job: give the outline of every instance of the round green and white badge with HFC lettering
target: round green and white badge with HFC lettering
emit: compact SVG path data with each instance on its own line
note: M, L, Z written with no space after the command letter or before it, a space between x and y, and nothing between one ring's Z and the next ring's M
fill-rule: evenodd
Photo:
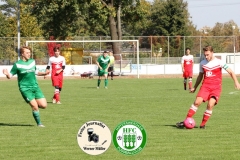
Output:
M147 142L146 131L135 121L124 121L113 132L113 144L126 155L134 155L143 150Z

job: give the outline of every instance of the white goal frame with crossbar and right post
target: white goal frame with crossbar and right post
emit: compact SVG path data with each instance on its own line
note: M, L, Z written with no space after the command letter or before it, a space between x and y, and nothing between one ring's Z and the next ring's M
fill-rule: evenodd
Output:
M101 43L109 43L109 42L131 42L133 44L136 44L136 53L137 53L137 78L139 79L139 40L65 40L65 41L51 41L51 40L29 40L26 41L26 46L28 46L30 43L99 43L101 46ZM102 52L101 47L99 49L100 52Z

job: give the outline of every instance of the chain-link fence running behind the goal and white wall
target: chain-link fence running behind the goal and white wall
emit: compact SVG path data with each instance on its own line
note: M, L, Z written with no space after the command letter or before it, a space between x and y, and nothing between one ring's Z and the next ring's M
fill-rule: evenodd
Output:
M215 53L236 53L239 54L238 36L124 36L124 40L139 40L140 64L179 64L185 49L190 48L191 54L195 57L195 63L200 61L202 48L212 45ZM26 41L45 40L42 37L21 37L21 45ZM111 40L111 37L72 37L71 40ZM67 41L59 44L65 48L83 48L83 56L96 56L104 50L112 50L112 43L85 43ZM47 43L29 44L33 49L32 58L37 64L47 64L49 53ZM18 60L17 37L0 37L0 65L11 65ZM122 59L137 63L136 44L133 42L122 42L120 45ZM83 62L90 64L89 60Z

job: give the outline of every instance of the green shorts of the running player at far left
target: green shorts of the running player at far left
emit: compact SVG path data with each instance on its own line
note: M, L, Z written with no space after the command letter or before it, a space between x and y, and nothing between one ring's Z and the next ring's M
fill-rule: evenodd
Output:
M45 98L41 89L39 87L34 87L34 88L28 88L24 90L20 90L23 99L29 103L33 99L41 99Z

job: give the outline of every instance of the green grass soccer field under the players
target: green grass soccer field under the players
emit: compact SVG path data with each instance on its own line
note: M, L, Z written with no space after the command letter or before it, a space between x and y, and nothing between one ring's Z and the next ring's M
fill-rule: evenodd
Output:
M195 81L196 79L194 79ZM183 90L182 78L114 79L108 89L97 89L97 79L65 79L61 105L51 103L51 80L39 80L48 107L40 110L45 128L36 127L30 107L22 99L16 80L0 81L0 159L239 159L240 92L231 78L223 79L219 104L205 130L199 124L206 103L194 116L196 128L178 129L196 93ZM79 128L87 121L104 122L113 132L126 120L140 123L147 144L138 154L127 156L113 143L101 155L83 152L77 143Z

